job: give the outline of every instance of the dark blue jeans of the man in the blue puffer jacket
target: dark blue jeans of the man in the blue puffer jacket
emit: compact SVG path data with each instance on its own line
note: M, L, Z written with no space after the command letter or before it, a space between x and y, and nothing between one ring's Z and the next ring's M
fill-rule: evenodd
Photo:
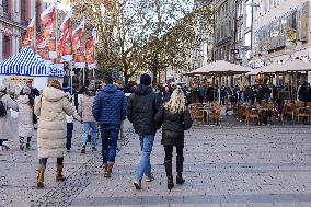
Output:
M115 163L119 125L101 124L103 163Z

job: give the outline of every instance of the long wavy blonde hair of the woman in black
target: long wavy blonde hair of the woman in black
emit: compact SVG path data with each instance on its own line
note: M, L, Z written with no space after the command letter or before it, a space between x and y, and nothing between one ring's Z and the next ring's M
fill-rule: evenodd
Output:
M183 112L185 107L185 95L181 89L175 89L171 95L171 99L165 103L164 108L173 114Z

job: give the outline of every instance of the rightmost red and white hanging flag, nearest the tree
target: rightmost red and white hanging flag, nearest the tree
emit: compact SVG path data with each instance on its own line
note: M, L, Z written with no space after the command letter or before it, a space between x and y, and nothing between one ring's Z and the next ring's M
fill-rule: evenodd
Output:
M85 46L85 60L89 69L96 68L95 47L96 47L96 30L93 28L92 36L89 37Z

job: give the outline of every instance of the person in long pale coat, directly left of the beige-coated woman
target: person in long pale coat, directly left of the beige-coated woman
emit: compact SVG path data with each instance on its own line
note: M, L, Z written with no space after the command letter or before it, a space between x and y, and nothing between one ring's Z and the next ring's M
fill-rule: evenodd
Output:
M31 149L31 140L34 136L33 106L34 100L30 95L31 89L24 88L18 97L19 116L18 130L20 137L20 149L24 150L24 140L27 138L26 148Z

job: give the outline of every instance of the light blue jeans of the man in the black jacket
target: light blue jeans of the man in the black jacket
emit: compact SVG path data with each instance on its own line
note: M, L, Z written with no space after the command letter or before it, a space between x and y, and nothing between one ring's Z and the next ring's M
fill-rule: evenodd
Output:
M141 158L139 166L136 171L136 180L140 181L143 176L151 175L151 163L150 163L150 154L153 147L154 136L153 135L143 135L139 137L140 139L140 148L141 148Z

